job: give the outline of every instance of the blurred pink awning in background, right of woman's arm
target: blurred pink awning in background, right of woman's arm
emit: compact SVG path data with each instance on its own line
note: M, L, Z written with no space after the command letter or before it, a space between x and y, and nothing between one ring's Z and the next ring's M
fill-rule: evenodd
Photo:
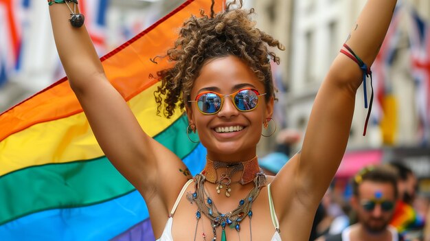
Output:
M354 176L366 165L381 163L383 159L382 150L363 150L346 152L342 163L336 172L336 177L349 178Z

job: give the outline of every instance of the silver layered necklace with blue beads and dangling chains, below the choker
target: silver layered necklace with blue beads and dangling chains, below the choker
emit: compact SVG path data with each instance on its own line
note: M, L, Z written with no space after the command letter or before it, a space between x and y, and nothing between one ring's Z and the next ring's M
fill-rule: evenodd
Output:
M243 175L242 175L243 176ZM238 235L240 231L240 222L244 220L247 216L249 217L249 233L250 238L252 240L252 232L251 232L251 218L252 218L252 203L256 200L258 194L260 193L260 188L266 183L266 175L263 172L257 172L254 174L253 182L254 187L249 192L249 194L239 200L238 207L233 211L229 211L225 214L220 213L216 208L214 201L210 198L209 194L205 191L205 187L203 183L207 180L206 176L202 174L197 174L194 178L195 181L195 192L192 194L187 194L187 198L191 203L196 203L197 211L196 211L196 231L194 232L194 240L196 240L197 228L199 227L199 220L201 219L201 215L204 214L207 218L209 218L211 222L212 232L214 238L212 240L216 240L216 228L221 227L221 241L227 241L227 237L225 235L225 227L229 226L231 229L236 229ZM205 233L203 233L203 239L205 240ZM240 236L239 236L240 239Z

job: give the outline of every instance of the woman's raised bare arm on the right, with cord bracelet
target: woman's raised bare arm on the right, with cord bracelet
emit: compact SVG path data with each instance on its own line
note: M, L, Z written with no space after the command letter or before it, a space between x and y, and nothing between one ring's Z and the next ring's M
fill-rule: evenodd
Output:
M396 0L368 0L352 26L346 45L367 66L378 54L395 6ZM345 48L343 51L350 53ZM339 167L350 135L355 95L362 82L363 71L357 62L339 53L315 98L302 150L287 164L292 171L287 174L290 168L284 168L273 183L277 187L279 181L281 190L293 174L292 192L306 207L316 209ZM285 192L280 193L280 198L285 198Z

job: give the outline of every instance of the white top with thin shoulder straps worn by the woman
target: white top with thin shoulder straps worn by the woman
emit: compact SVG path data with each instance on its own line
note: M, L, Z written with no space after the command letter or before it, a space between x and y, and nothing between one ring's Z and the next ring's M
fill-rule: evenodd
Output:
M166 222L166 226L164 227L163 233L161 233L161 237L159 239L157 239L157 241L173 241L172 238L172 223L173 223L173 214L174 211L176 211L179 201L181 200L185 190L187 190L188 185L190 185L190 183L192 183L192 179L188 180L187 183L185 183L185 185L182 187L181 193L179 193L179 196L176 200L176 202L173 205L172 211L170 211L170 217L168 218L167 222ZM282 241L281 240L281 236L279 234L279 222L278 222L278 218L276 217L275 214L275 207L273 206L273 200L272 200L272 196L271 196L271 192L270 192L270 184L267 186L267 192L268 192L268 196L269 196L269 205L270 205L270 214L272 217L272 222L273 222L273 226L275 227L275 233L273 234L273 237L271 239L271 241ZM398 240L396 240L398 241Z

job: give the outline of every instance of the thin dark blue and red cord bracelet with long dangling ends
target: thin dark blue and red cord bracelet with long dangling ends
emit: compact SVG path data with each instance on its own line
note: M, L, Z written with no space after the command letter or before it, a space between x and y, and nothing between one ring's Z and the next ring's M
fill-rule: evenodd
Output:
M369 122L370 112L372 111L372 103L373 103L372 71L370 70L370 67L367 67L365 62L363 62L363 60L361 60L361 58L359 58L359 56L357 56L357 54L355 54L354 51L352 51L352 49L348 45L346 45L346 43L343 44L343 47L348 49L348 51L350 51L351 54L343 49L341 49L341 53L345 54L350 59L354 60L354 62L357 62L357 65L359 65L361 71L363 71L364 108L367 108L366 77L370 77L370 87L372 89L372 94L370 95L369 110L367 111L367 116L366 116L364 130L363 130L363 135L366 135L367 124Z

